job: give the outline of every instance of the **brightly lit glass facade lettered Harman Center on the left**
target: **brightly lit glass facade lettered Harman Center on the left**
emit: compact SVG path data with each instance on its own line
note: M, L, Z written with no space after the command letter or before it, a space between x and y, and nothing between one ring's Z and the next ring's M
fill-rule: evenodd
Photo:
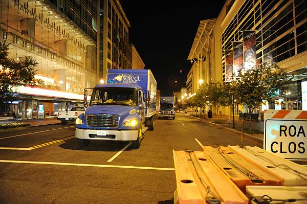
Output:
M20 95L8 111L15 118L53 117L82 105L83 89L98 82L97 7L85 0L0 1L0 40L10 44L9 57L35 59L42 80L14 87Z

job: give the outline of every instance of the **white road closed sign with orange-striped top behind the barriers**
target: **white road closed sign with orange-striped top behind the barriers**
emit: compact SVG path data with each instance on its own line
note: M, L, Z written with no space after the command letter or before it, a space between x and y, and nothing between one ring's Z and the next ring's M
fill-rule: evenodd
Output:
M290 160L307 160L307 111L267 110L264 149Z

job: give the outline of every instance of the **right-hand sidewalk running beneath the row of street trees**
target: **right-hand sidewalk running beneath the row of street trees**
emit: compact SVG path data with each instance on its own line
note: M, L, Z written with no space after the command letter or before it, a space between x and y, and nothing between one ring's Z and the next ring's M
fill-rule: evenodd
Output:
M193 112L193 114L195 114L195 112ZM198 113L199 114L199 113ZM195 118L199 118L202 121L206 121L206 122L210 122L211 124L214 124L216 126L220 126L220 127L224 127L228 130L234 131L238 134L240 134L240 129L242 127L242 122L243 120L239 120L239 117L235 116L234 117L234 129L233 129L233 116L230 116L230 120L231 120L231 124L228 123L229 120L229 116L226 115L218 115L216 116L216 114L212 114L212 118L208 119L208 115L205 114L205 119L204 118L200 118L199 115L197 116L191 116L191 112L188 111L187 115L189 115L190 117L195 117ZM203 115L202 115L203 116ZM245 129L249 129L249 121L244 121L244 128ZM244 133L244 135L246 135L247 137L256 139L257 141L263 141L264 140L264 121L259 121L259 122L251 122L251 128L261 131L262 133L254 133L254 134L248 134L248 133Z

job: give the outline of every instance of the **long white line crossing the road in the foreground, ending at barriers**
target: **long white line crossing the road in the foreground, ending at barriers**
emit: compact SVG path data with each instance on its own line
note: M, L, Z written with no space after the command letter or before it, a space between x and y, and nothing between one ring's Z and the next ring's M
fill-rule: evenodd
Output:
M174 168L99 165L99 164L75 164L75 163L60 163L60 162L33 162L33 161L15 161L15 160L0 160L0 162L1 163L19 163L19 164L50 164L50 165L63 165L63 166L123 168L123 169L149 169L149 170L165 170L165 171L174 171L175 170Z

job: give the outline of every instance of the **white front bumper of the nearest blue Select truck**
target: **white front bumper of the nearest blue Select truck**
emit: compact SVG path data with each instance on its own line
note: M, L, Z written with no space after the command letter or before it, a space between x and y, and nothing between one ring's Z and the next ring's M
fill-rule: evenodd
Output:
M114 140L135 141L138 139L139 130L103 130L105 135L98 135L98 131L76 128L76 138L86 140Z

